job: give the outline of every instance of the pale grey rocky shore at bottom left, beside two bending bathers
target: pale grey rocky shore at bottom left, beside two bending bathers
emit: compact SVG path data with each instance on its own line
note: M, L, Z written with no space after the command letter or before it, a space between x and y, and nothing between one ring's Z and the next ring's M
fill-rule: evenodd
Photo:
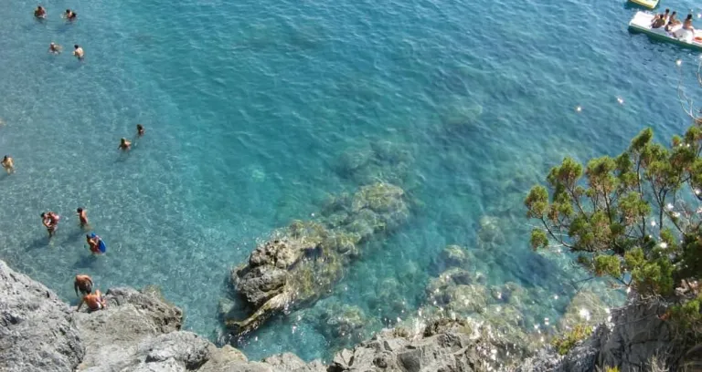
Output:
M105 297L105 309L76 312L0 261L0 371L324 370L289 354L271 357L270 363L248 362L231 346L218 348L180 331L183 313L154 290L113 288Z

